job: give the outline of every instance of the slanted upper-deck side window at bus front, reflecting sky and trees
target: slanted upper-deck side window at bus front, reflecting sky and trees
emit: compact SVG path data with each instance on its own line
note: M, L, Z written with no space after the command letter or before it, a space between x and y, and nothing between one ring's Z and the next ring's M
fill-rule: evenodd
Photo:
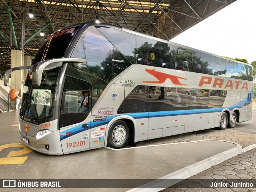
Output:
M131 65L94 26L87 28L76 44L72 57L86 58L78 65L91 75L111 81Z

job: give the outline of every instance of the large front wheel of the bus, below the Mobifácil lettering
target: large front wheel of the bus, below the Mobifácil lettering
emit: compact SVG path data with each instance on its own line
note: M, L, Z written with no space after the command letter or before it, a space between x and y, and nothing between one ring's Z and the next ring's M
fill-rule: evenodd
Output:
M121 120L115 121L109 128L107 145L111 148L124 148L128 141L128 125Z

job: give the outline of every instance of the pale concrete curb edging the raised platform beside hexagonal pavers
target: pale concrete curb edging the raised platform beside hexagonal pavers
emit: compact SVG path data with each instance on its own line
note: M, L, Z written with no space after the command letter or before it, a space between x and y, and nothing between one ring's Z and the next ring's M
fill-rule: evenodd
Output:
M222 141L222 140L206 139L206 140L199 140L199 141ZM182 143L192 143L192 142L199 142L199 141L182 142ZM225 141L225 142L233 143L230 141ZM177 144L177 143L172 143L172 144ZM218 165L218 164L224 162L225 160L228 160L238 154L241 154L243 152L242 146L237 143L234 143L234 144L236 144L236 147L230 148L229 150L226 150L224 152L221 152L219 154L216 154L214 156L206 158L200 162L186 166L178 171L172 172L166 176L159 178L158 180L161 180L160 182L157 180L154 180L152 182L149 182L149 183L139 186L137 188L133 188L126 192L158 192L160 190L164 190L174 184L181 182L182 180L185 180L185 179L187 179L191 176L194 176L208 168ZM164 144L162 144L162 145L164 145ZM256 144L254 144L254 145L255 145L254 147L256 147ZM153 145L150 145L150 146L153 146ZM159 146L159 145L154 145L154 146ZM248 149L248 150L250 150L250 149ZM165 188L163 188L162 186L165 186Z

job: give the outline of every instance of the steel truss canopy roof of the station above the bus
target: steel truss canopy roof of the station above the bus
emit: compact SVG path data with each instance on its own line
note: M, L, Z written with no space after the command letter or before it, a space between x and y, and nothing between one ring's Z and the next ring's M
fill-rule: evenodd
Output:
M10 68L11 49L22 49L24 55L34 56L50 34L71 24L99 19L170 40L234 1L1 0L0 71ZM30 18L30 14L34 16ZM44 36L40 36L40 30Z

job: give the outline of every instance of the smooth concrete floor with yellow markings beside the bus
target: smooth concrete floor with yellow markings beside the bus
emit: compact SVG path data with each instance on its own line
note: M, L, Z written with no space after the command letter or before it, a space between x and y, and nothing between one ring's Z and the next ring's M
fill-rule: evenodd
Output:
M112 179L105 187L102 185L103 188L77 188L76 192L126 191L131 187L108 187L111 182L120 179L132 179L134 185L129 186L140 186L147 182L142 179L162 178L237 146L234 143L213 140L142 146L123 150L99 148L61 156L49 156L33 150L22 150L25 146L20 144L18 118L18 111L0 113L0 179L94 179L94 182L100 182L100 179ZM20 152L21 150L24 154ZM72 189L4 188L0 191L54 192L72 191Z

